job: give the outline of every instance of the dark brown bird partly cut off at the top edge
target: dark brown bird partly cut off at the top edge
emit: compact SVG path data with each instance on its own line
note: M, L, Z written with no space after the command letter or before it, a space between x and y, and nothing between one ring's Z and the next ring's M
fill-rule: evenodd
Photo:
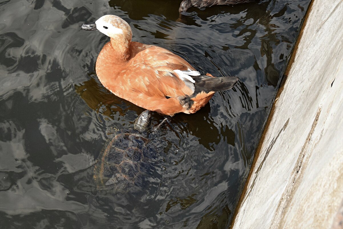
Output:
M203 8L215 5L230 5L250 2L252 0L183 0L180 4L179 12L186 12L192 6Z

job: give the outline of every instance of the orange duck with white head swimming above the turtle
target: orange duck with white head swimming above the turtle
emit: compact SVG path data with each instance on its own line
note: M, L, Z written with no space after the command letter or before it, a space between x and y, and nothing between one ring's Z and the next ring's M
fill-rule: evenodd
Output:
M96 61L100 82L113 94L145 109L167 115L194 113L216 91L237 83L237 77L200 75L164 48L131 42L129 24L115 15L105 15L82 28L111 37Z

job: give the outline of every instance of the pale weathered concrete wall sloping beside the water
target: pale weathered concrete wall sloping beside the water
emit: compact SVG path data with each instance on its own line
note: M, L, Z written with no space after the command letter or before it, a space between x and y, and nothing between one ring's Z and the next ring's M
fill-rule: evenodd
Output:
M231 228L343 219L343 1L312 0L309 10Z

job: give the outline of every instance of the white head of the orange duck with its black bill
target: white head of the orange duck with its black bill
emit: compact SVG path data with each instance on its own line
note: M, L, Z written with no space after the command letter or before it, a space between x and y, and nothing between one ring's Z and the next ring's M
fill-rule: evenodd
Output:
M116 15L105 15L93 23L84 23L81 27L84 30L100 31L115 40L125 38L131 41L132 38L130 25Z

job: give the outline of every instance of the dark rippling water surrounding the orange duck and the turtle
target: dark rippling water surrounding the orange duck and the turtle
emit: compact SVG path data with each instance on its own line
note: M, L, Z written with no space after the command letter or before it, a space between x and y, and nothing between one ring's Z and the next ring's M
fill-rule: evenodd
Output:
M0 1L0 228L228 227L309 0L191 8L181 19L179 2ZM160 177L139 195L88 188L106 130L143 111L96 77L108 37L80 25L109 13L133 41L240 79L154 137Z

